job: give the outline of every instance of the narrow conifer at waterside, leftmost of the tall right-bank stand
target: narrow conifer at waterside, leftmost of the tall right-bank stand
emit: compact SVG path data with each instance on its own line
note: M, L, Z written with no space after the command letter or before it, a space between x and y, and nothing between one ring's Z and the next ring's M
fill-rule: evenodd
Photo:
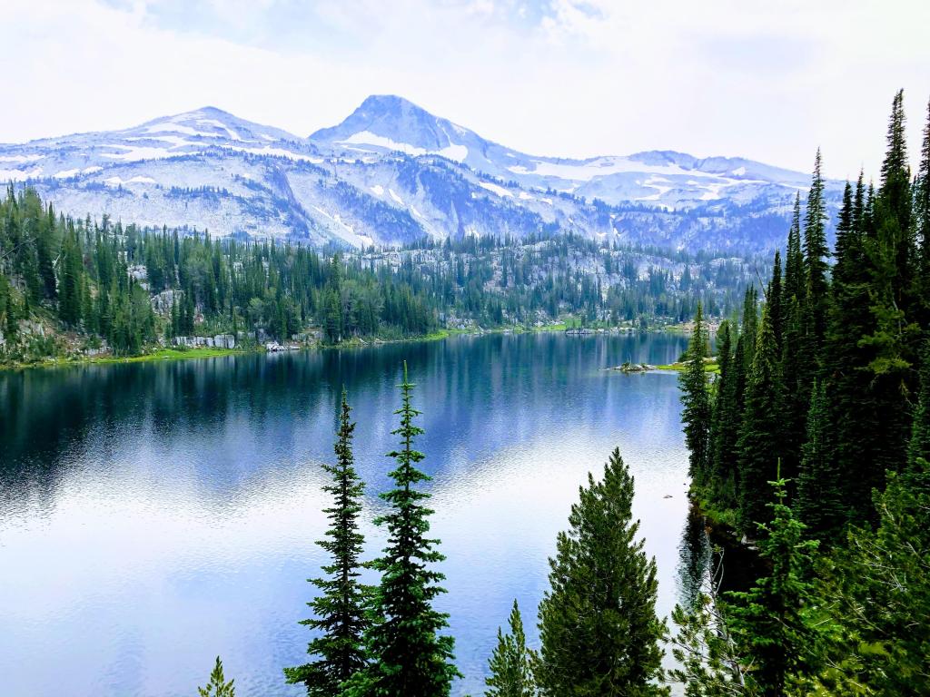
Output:
M707 330L700 303L697 303L694 331L688 344L686 367L679 375L682 388L684 442L689 453L688 473L698 486L707 482L710 464L711 396L707 388L704 357Z

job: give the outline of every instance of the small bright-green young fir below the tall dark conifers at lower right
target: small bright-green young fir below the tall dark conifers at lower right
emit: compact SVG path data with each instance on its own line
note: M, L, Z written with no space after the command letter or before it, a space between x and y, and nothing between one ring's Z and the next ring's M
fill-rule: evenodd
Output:
M769 482L771 523L760 525L759 553L771 571L749 591L728 594L730 629L743 655L751 659L748 679L764 697L783 697L793 677L818 667L819 638L812 617L813 585L806 580L817 541L804 541L804 523L785 503L787 482Z

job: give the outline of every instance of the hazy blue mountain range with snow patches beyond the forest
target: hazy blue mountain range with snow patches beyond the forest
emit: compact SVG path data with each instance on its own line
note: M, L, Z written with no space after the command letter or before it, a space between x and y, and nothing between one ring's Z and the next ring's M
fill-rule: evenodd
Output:
M309 138L213 107L120 131L0 145L0 181L60 211L314 244L570 231L622 243L767 250L809 176L680 152L513 151L406 99L372 96ZM829 203L839 201L828 183Z

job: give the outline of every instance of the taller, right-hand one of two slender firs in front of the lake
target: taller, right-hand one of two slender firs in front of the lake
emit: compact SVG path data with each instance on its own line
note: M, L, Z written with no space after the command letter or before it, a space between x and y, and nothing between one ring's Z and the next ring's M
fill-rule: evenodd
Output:
M423 502L430 494L416 489L430 478L417 468L424 455L413 449L414 439L423 433L414 425L420 414L411 402L414 387L404 363L402 406L395 412L401 423L392 431L400 436L401 448L389 454L397 462L390 472L394 488L381 494L391 511L375 520L388 530L384 555L372 563L381 572L372 608L378 621L365 633L371 663L350 681L347 693L353 697L442 697L458 677L451 663L454 639L439 634L448 615L432 608L432 601L445 592L437 585L445 576L429 567L445 557L435 548L439 540L426 536L432 510Z

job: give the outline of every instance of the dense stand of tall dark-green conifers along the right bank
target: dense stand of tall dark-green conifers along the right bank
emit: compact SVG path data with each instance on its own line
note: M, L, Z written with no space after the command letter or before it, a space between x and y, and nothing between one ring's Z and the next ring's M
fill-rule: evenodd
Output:
M845 187L832 252L817 153L784 272L777 253L721 324L711 382L697 311L692 492L766 575L679 609L693 694L930 693L930 112L911 178L902 101L877 188Z

